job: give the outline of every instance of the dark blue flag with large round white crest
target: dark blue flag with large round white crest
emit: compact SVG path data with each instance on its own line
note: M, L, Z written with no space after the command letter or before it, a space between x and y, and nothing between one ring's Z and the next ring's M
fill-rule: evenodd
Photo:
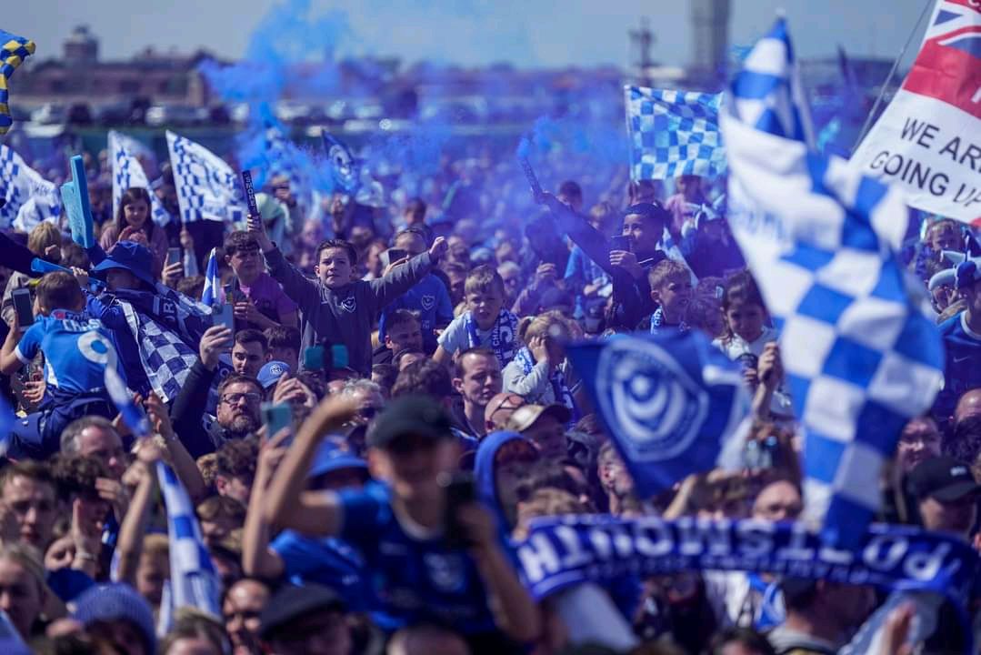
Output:
M738 464L749 412L740 370L697 330L569 346L593 407L645 497Z

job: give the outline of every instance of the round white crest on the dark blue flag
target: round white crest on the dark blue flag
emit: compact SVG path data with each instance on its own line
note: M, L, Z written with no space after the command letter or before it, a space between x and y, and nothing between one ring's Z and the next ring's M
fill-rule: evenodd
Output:
M688 450L708 412L708 394L652 342L611 342L599 355L596 395L632 460L663 462Z

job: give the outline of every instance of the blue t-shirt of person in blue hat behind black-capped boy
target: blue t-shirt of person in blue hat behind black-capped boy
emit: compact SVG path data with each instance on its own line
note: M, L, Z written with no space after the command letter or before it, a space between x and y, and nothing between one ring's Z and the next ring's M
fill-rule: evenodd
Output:
M364 561L344 541L284 530L270 547L283 560L283 574L290 581L301 585L316 582L335 589L351 612L366 612L371 608L371 580Z

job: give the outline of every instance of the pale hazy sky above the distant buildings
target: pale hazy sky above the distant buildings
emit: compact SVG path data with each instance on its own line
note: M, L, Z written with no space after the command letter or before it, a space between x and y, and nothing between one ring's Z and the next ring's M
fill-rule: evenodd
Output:
M101 59L206 48L226 58L248 49L260 23L293 19L336 28L337 56L397 56L479 66L522 68L627 66L626 32L650 19L656 61L689 61L691 0L26 0L5 3L0 29L37 44L35 56L59 56L62 41L88 25ZM895 58L932 0L732 0L730 44L749 45L782 8L803 58ZM320 23L318 23L320 21ZM916 39L910 46L915 50ZM335 32L331 32L334 34ZM311 43L318 43L317 38ZM302 46L299 46L302 47Z

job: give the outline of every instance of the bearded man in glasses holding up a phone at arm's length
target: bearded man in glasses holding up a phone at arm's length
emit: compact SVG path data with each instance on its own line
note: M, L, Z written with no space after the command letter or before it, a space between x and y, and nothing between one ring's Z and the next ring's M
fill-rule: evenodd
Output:
M201 338L200 358L191 366L181 394L174 401L174 431L195 460L214 453L227 441L241 439L259 428L262 387L253 377L232 373L218 387L218 409L212 419L205 412L208 389L218 370L218 358L228 349L232 332L224 326L208 328ZM202 420L202 416L204 419Z

